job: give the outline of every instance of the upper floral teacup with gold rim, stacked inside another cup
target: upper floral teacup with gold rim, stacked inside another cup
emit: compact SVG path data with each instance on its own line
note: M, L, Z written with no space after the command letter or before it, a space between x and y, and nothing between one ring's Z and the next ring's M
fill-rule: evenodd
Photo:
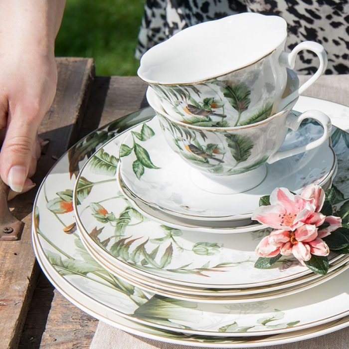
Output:
M325 71L322 45L305 41L284 51L286 21L241 13L186 28L147 51L138 69L173 119L200 127L250 125L282 110ZM297 54L319 57L317 72L282 97Z

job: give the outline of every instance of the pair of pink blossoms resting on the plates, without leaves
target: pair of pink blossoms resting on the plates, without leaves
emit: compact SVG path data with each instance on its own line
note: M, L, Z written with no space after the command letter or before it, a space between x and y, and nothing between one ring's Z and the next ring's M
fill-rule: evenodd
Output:
M342 226L342 219L319 212L324 200L324 190L315 184L306 187L300 195L286 188L273 190L271 205L259 207L252 219L277 230L262 239L256 254L266 258L293 254L303 265L312 254L327 256L330 250L322 237Z

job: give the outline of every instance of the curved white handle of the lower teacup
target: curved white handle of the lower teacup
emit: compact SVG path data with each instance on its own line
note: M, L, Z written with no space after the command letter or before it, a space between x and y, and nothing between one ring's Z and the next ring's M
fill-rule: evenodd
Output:
M315 119L320 125L324 128L324 134L317 139L316 141L310 142L304 146L297 147L290 150L285 150L282 152L276 152L272 154L269 159L267 160L268 164L273 164L276 161L279 161L281 159L285 159L288 157L292 157L294 155L306 152L308 150L314 149L316 147L321 146L331 135L331 120L330 118L324 114L323 112L320 112L318 110L308 110L304 112L303 114L296 116L292 113L289 114L289 116L286 119L285 126L293 131L297 131L299 128L299 125L301 125L302 121L304 119Z

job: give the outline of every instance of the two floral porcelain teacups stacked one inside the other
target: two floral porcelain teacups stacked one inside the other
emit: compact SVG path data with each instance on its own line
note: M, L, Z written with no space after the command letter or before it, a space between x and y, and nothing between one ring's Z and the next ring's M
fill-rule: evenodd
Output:
M305 41L287 53L286 38L283 18L241 13L186 28L142 57L138 75L149 84L148 102L170 147L199 170L196 185L222 194L246 191L263 181L266 163L329 138L324 113L291 113L298 96L324 73L325 49ZM302 50L313 51L320 63L299 86L292 69ZM288 130L307 118L323 126L323 135L279 151Z

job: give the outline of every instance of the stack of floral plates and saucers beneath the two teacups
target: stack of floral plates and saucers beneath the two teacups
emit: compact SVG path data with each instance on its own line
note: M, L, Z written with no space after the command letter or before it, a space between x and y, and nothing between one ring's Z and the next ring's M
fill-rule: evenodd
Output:
M300 97L295 108L317 103ZM335 123L338 111L349 117L335 103L323 111ZM348 326L349 257L330 255L326 276L291 257L256 269L254 249L268 229L251 214L276 186L300 192L334 182L349 197L349 135L334 127L332 144L268 165L257 187L222 195L195 185L153 116L146 108L94 132L42 183L33 244L56 288L98 319L175 344L250 348ZM305 122L283 148L319 133ZM149 167L137 166L135 142Z

